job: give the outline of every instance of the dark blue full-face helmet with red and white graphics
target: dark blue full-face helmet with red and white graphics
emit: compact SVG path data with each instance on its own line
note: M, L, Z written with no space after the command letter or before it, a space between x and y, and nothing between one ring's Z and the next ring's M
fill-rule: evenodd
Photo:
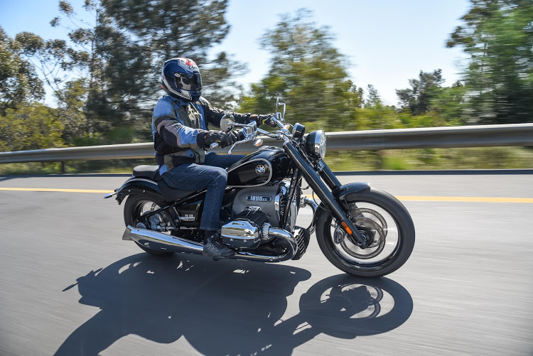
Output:
M189 58L171 58L161 71L163 90L173 99L195 102L202 95L200 70Z

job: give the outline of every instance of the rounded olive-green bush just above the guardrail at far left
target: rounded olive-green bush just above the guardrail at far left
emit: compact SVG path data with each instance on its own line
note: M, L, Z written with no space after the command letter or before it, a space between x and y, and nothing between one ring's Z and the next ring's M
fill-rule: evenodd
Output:
M23 104L0 116L0 151L26 151L64 146L63 124L43 104Z

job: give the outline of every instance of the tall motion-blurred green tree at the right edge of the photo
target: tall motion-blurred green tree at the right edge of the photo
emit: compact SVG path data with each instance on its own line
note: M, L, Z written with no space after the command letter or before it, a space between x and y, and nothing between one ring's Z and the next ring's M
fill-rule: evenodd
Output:
M471 115L483 124L532 121L533 2L470 1L447 45L470 55L464 82Z

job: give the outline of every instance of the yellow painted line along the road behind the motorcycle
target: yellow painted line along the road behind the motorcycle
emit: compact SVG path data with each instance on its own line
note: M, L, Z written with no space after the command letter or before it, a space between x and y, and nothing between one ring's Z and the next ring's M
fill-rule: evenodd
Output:
M103 189L61 189L61 188L1 188L0 190L23 192L58 192L58 193L114 193L113 190ZM307 195L313 198L313 195ZM316 195L315 195L316 197ZM397 196L398 200L413 200L424 202L468 202L468 203L526 203L533 204L533 198L489 198L489 197L426 197L426 196Z

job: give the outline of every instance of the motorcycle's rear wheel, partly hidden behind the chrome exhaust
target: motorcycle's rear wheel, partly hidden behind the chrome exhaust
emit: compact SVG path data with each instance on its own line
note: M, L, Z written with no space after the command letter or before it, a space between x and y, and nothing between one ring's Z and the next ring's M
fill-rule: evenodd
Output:
M158 195L129 195L126 203L124 204L124 223L126 226L131 225L139 229L156 230L157 225L161 225L161 223L164 224L170 221L170 218L166 212L159 212L156 215L152 215L147 219L146 222L139 222L138 218L142 215L148 214L149 212L158 210L160 207L165 205L165 201ZM170 232L161 233L170 234ZM174 252L149 249L148 247L139 244L139 242L135 243L137 246L141 247L141 249L144 249L144 251L148 252L149 254L153 254L154 256L171 256L174 254Z

